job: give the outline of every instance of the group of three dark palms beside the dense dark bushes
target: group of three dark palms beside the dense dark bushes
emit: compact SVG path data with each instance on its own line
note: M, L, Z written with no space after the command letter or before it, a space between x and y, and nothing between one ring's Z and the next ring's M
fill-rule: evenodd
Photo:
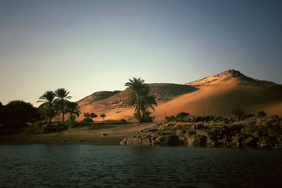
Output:
M46 91L37 102L42 102L38 107L38 113L41 117L49 119L48 124L56 115L62 114L63 121L65 121L65 114L69 114L70 120L75 120L79 117L80 108L76 102L70 102L68 99L71 98L69 91L65 88L58 88L55 91Z

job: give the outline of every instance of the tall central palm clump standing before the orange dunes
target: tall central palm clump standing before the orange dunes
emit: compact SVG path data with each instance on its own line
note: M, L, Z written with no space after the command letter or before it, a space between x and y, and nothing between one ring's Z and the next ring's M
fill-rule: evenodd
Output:
M150 88L141 78L133 78L133 80L129 79L129 81L124 86L132 89L127 98L127 105L135 108L134 117L139 122L153 121L154 117L149 116L151 114L149 108L155 111L153 105L157 106L156 97L149 95Z

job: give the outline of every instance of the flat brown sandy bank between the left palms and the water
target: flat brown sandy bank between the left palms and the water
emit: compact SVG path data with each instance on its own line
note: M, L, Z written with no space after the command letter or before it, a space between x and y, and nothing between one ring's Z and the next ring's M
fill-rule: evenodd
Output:
M0 136L0 144L72 144L75 143L119 143L124 138L136 135L155 123L128 123L123 125L96 125L70 128L66 131L48 134L13 134ZM101 136L108 134L107 136Z

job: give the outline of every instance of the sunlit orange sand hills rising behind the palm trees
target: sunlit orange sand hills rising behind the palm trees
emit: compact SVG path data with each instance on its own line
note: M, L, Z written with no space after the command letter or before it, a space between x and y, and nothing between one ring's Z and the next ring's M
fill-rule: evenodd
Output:
M181 111L191 115L230 115L234 109L241 108L246 113L255 114L266 111L268 114L282 116L282 85L247 77L236 70L228 70L220 74L206 77L194 82L181 84L154 83L148 84L151 94L157 98L158 106L153 115L157 121L166 115L176 115ZM117 91L116 91L117 92ZM82 114L95 112L106 114L106 119L133 120L133 109L125 106L125 99L130 89L108 93L109 97L97 97L78 101ZM79 117L81 120L83 117Z

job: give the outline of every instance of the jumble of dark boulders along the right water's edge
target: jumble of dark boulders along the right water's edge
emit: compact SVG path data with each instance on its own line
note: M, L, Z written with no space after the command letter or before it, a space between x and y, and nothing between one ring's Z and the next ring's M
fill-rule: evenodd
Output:
M282 147L282 118L278 116L250 117L240 122L217 126L209 122L195 123L178 130L161 131L161 125L144 130L139 135L123 139L121 145L248 145ZM145 133L145 134L142 134ZM141 135L140 135L141 134Z

